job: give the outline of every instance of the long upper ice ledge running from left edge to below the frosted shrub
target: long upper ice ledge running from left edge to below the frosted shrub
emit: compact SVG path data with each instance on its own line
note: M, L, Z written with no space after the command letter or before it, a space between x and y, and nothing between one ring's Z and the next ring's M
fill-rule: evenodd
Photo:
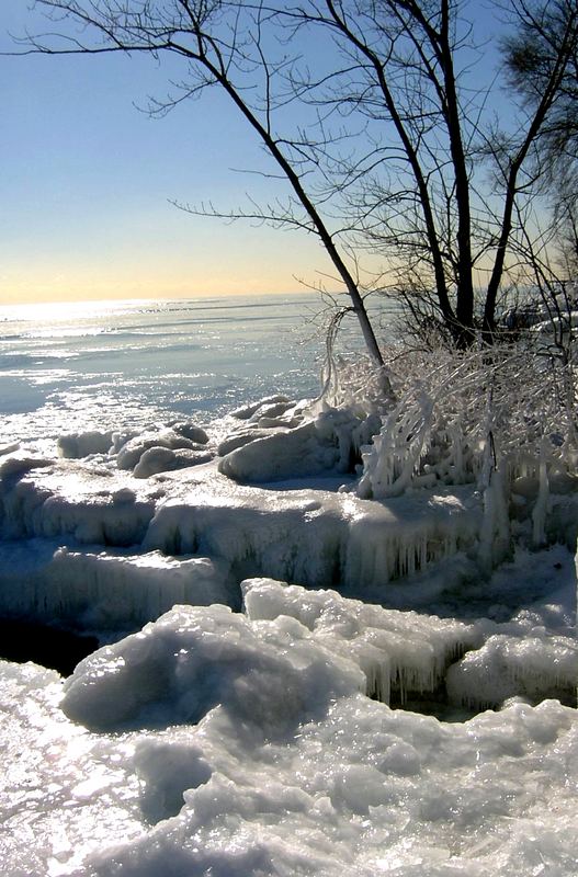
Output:
M30 464L2 479L3 536L201 554L229 563L238 580L363 589L451 557L475 542L479 527L468 488L442 491L427 505L412 497L388 505L319 489L241 486L213 466L161 479L77 460Z

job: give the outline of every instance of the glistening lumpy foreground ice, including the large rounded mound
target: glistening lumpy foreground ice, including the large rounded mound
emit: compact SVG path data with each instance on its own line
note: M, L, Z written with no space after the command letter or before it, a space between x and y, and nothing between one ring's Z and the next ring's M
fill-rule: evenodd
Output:
M385 641L397 613L308 592L299 610L299 589L281 590L248 582L249 612L305 624L178 606L84 659L64 684L68 718L56 674L0 665L4 874L576 873L576 710L392 710L338 643L362 620Z

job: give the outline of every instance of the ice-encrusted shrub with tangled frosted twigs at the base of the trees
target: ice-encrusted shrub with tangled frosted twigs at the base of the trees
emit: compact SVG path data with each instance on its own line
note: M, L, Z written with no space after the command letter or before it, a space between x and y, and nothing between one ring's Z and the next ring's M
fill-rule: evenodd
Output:
M503 537L497 522L512 485L524 481L534 499L533 540L543 542L548 486L571 486L578 463L573 358L545 355L525 338L468 352L390 350L388 368L397 401L382 410L379 433L362 448L359 494L477 483ZM366 363L342 360L336 373L333 405L376 411Z

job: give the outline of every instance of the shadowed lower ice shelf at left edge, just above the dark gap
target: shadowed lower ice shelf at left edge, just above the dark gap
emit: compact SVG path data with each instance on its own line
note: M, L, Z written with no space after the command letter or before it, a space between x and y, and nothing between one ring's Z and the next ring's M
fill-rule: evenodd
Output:
M134 630L175 603L238 605L228 565L160 551L71 550L31 539L0 545L1 614L73 628Z

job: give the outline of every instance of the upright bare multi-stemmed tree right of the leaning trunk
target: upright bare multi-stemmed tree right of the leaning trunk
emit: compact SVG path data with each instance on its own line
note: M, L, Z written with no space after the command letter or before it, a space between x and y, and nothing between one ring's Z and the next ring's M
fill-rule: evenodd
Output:
M501 23L524 34L551 5L559 12L556 38L536 100L514 101L503 125L488 124L492 84L478 87L471 69L483 47L465 18L467 3L313 0L285 12L301 26L330 31L348 60L330 79L309 77L303 93L366 121L369 148L341 162L336 183L356 246L378 249L389 289L415 321L431 318L457 346L468 346L478 330L492 341L505 281L517 270L533 273L524 262L530 229L534 250L549 235L534 209L544 171L536 148L569 100L576 0L513 0ZM500 4L494 9L498 14Z

